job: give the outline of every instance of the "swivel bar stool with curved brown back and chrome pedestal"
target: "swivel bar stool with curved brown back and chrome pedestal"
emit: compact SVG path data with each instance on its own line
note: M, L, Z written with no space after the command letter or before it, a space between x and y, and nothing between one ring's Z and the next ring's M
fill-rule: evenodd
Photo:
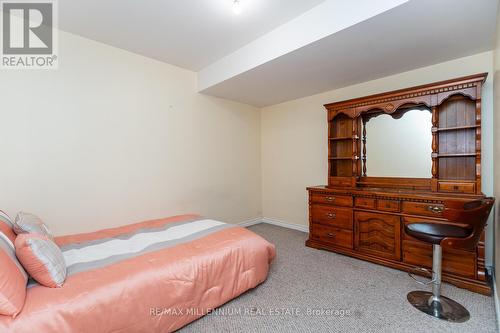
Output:
M441 295L442 248L473 250L486 226L494 198L469 201L446 201L443 217L453 224L411 223L405 226L405 232L426 243L432 244L432 272L425 268L419 271L432 273L429 282L418 281L409 272L411 278L420 284L432 284L432 293L412 291L407 299L415 308L433 317L451 321L465 322L470 314L466 308L454 300Z

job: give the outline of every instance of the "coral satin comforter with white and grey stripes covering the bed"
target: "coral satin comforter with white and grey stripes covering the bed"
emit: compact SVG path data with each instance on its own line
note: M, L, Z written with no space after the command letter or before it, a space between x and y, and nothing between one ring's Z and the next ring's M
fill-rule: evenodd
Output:
M57 237L62 288L28 286L0 332L171 332L265 281L272 244L231 224L183 215Z

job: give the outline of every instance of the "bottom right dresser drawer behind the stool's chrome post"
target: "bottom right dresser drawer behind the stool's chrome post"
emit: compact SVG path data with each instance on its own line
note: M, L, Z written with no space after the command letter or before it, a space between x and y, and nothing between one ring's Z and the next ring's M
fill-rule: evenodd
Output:
M403 262L418 267L432 267L432 245L419 241L403 241ZM476 255L474 252L443 250L443 272L468 278L476 276Z

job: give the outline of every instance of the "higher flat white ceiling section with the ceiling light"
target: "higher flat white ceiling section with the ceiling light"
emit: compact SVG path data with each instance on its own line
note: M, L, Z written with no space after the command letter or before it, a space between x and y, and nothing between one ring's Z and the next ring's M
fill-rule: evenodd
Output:
M59 1L59 28L198 71L323 1Z

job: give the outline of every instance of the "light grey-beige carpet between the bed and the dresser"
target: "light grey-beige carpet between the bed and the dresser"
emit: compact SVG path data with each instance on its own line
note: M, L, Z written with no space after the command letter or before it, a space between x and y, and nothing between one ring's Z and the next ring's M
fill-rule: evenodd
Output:
M471 313L466 323L447 323L407 303L419 288L404 272L306 248L299 231L250 229L277 248L267 281L181 332L496 332L492 297L444 284L443 294Z

